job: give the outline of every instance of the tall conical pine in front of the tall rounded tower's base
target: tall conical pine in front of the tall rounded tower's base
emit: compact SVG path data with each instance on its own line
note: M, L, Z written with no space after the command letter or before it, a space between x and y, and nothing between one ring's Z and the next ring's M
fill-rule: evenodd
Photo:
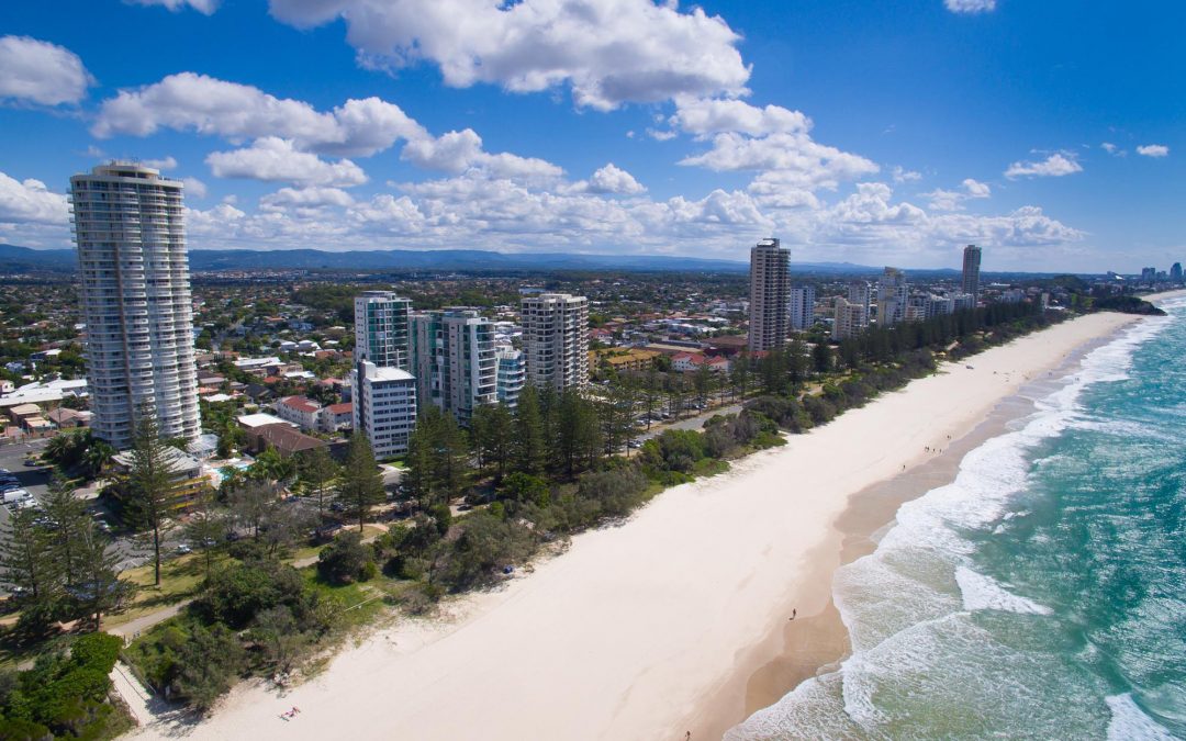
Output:
M160 439L157 417L142 411L128 452L127 511L132 520L152 531L153 583L160 586L160 534L173 498L176 448Z

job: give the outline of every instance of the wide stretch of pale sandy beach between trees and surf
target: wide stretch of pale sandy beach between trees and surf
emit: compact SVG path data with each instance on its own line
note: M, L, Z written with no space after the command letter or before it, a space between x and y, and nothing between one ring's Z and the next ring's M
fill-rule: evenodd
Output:
M753 703L777 700L764 691L843 652L842 630L811 626L839 624L827 613L842 550L860 549L860 534L905 496L871 487L904 471L945 475L935 451L969 445L1022 384L1135 320L1092 314L945 365L725 475L664 492L534 574L447 605L446 619L377 632L283 695L248 683L197 726L136 736L719 737ZM771 663L788 647L802 660ZM281 720L293 705L300 715Z

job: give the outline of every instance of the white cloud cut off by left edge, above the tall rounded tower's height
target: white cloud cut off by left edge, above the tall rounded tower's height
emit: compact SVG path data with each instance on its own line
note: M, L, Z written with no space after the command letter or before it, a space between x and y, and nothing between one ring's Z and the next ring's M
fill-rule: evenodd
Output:
M27 36L0 38L0 98L40 106L78 103L94 83L64 46Z

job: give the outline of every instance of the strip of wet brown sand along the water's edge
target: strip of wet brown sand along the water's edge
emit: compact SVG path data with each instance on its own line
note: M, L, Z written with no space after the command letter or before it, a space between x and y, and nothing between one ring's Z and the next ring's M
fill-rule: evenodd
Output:
M1032 378L1016 392L1003 397L980 424L952 440L936 458L854 493L834 523L834 531L821 547L823 552L816 562L817 575L828 582L825 605L795 621L773 625L766 638L739 662L727 683L703 700L702 709L688 724L700 727L709 739L720 739L804 681L837 670L849 657L850 644L848 630L831 599L836 569L873 552L880 535L897 522L901 505L955 481L964 455L1033 414L1034 400L1048 392L1044 387L1073 373L1089 352L1114 339L1124 326L1128 325L1088 340L1056 365L1044 369L1053 376Z

